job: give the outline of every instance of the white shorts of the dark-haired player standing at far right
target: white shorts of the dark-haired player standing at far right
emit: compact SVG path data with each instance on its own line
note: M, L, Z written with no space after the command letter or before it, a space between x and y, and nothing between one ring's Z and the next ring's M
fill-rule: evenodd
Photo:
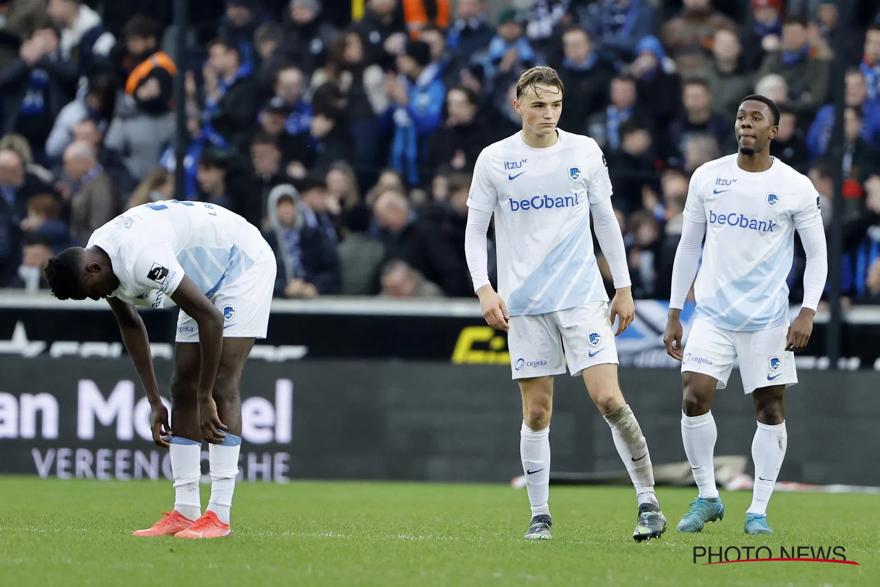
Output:
M738 358L745 393L772 385L795 385L795 354L785 350L787 337L788 325L735 332L695 319L687 336L681 371L708 375L718 380L716 389L724 389Z

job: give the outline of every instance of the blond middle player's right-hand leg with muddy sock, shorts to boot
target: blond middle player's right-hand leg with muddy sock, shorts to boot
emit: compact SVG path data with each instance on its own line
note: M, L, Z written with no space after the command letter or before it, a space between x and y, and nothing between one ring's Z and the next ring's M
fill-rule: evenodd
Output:
M654 470L648 443L620 391L617 377L618 357L608 305L593 302L555 312L573 376L581 374L590 399L605 417L614 446L627 467L635 488L639 508L633 537L644 540L659 537L666 530L666 518L654 492Z

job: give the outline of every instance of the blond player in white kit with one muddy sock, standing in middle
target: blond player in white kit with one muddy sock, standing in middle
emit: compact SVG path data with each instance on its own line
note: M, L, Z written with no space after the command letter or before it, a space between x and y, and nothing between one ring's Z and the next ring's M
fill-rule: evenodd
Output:
M508 332L510 368L523 398L520 456L532 505L526 539L551 538L550 415L554 375L583 381L612 430L636 489L634 539L660 536L666 520L654 493L648 444L620 393L616 334L635 315L620 224L605 157L591 138L556 128L564 89L556 71L519 78L514 106L523 129L480 153L467 201L465 248L473 287L489 326ZM487 231L495 215L498 292L487 271ZM590 215L617 294L611 305L599 275ZM564 350L563 350L564 345Z

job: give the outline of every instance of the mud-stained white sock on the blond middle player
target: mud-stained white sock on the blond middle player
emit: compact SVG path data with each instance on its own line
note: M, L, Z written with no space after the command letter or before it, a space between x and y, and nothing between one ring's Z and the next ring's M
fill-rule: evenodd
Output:
M614 446L633 480L636 501L639 505L650 503L660 507L654 493L654 467L651 466L648 443L633 410L628 405L618 407L605 415L605 422L611 427Z

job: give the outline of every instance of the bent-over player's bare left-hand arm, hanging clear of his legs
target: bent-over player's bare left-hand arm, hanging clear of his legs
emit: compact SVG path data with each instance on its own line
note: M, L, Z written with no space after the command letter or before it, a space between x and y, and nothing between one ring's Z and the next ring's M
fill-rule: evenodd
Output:
M168 425L168 409L162 404L162 399L159 397L147 328L143 326L143 319L137 313L135 306L126 304L116 297L107 297L106 300L119 323L122 342L125 344L125 349L128 350L131 362L135 363L137 376L141 378L143 389L147 392L147 399L150 400L152 411L150 429L153 432L153 442L168 448L166 437L170 437L172 431L171 426Z

